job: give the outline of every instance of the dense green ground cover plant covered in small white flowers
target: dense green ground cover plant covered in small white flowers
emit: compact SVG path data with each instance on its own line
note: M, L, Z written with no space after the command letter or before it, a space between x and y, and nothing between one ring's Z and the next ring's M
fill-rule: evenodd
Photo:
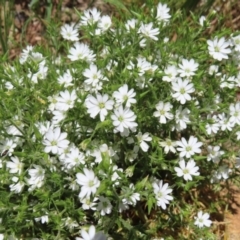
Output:
M2 57L1 238L215 239L240 167L240 35L165 3L78 15Z

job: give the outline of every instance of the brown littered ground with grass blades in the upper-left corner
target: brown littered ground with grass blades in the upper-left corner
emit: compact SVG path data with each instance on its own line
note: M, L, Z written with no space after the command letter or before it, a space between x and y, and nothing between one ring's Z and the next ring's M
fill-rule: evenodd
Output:
M89 7L97 7L103 13L113 11L113 7L103 0L52 0L51 3L46 0L14 0L14 4L11 2L13 1L0 0L0 27L4 30L3 34L6 32L7 35L5 39L8 41L9 59L18 56L26 44L45 44L44 31L50 19L59 23L76 22L79 18L76 10L83 11ZM30 8L31 2L36 4ZM9 16L7 22L4 20L6 15ZM0 44L0 53L2 50Z

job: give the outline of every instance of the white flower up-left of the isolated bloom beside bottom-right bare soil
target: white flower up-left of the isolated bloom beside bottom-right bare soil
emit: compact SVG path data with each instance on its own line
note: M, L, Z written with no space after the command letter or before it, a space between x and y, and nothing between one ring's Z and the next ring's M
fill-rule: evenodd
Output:
M168 187L168 183L163 184L162 180L153 182L152 186L157 199L157 205L162 209L166 209L166 204L173 200L173 197L169 195L172 189Z

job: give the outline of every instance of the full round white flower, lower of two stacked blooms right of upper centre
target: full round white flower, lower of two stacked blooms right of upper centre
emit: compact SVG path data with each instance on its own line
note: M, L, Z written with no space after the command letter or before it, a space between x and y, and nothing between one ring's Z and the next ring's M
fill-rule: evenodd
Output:
M182 80L181 78L172 82L172 90L174 91L172 96L181 104L185 104L186 101L191 100L189 93L193 93L195 91L193 84L188 79Z

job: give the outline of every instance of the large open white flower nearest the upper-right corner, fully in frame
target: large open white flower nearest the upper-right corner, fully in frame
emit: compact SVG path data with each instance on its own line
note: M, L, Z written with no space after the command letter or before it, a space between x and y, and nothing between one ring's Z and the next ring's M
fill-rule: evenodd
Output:
M218 39L207 40L209 54L216 60L228 59L228 54L231 52L229 42L224 37Z

